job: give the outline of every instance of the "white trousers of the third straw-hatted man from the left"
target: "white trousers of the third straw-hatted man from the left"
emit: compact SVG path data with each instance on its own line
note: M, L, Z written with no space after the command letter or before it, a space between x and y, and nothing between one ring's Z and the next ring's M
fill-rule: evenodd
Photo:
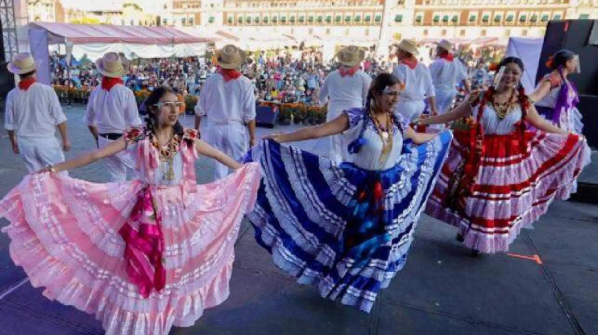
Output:
M210 124L206 132L206 142L210 146L224 152L230 158L239 160L248 150L249 139L244 125ZM220 162L215 161L214 180L222 179L230 173L230 169Z

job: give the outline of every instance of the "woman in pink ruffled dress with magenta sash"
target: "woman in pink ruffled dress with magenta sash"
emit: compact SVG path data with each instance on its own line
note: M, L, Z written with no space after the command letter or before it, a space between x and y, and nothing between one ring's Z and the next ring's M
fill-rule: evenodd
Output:
M146 128L78 158L26 176L0 201L10 254L44 296L95 314L106 334L168 334L228 297L243 216L260 185L256 163L240 165L178 123L179 102L165 88L147 99ZM141 179L90 183L71 170L135 150ZM237 169L197 185L206 155Z

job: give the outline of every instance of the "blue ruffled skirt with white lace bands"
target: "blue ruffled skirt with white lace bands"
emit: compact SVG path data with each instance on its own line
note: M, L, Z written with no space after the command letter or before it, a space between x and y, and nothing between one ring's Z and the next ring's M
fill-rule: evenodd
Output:
M264 140L244 158L263 170L255 209L247 214L255 238L300 284L370 312L380 289L405 265L451 139L443 131L406 147L385 171Z

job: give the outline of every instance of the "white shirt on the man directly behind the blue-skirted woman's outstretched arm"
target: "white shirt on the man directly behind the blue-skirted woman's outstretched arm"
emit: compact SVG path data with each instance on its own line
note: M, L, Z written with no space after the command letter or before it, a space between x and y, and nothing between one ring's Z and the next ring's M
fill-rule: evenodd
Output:
M322 85L319 100L325 103L328 97L328 110L342 112L352 108L363 107L368 96L371 77L358 70L353 76L341 76L338 70L330 73Z

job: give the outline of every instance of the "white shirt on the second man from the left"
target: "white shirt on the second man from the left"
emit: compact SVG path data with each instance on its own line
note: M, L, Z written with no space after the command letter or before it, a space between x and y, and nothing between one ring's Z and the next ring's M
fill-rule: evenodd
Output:
M133 91L121 84L110 91L96 87L89 96L84 121L97 127L100 134L123 133L129 127L142 125Z

